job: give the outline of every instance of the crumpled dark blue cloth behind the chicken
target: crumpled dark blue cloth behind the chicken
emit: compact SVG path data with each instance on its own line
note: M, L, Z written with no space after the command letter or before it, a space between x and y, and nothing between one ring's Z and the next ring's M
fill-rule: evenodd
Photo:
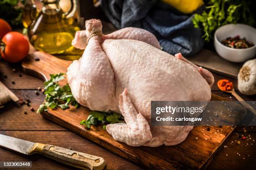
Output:
M101 0L108 19L118 29L137 27L148 30L169 54L193 55L204 45L201 30L192 17L157 0Z

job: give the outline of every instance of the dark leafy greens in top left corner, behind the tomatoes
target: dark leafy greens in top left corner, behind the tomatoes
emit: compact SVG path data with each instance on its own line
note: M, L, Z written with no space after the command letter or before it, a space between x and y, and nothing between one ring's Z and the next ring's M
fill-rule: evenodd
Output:
M24 3L25 0L0 0L0 18L12 26L21 25L22 10L18 2Z

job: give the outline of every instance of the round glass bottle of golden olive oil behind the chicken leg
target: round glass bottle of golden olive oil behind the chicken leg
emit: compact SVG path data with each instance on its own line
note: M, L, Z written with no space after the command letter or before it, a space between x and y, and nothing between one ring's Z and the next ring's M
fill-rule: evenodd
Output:
M81 55L82 50L75 49L71 43L75 32L80 30L72 16L76 11L76 0L71 0L72 8L64 13L59 0L41 0L43 8L29 28L31 44L50 54Z

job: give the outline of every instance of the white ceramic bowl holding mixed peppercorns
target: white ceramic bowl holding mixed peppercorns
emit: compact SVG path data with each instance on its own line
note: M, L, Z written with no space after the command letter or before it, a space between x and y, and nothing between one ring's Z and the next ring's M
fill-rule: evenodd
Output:
M245 49L235 49L221 44L222 40L227 37L240 35L241 38L253 42L254 46ZM228 24L224 25L214 33L214 47L216 52L226 60L232 62L244 62L256 55L256 29L245 24Z

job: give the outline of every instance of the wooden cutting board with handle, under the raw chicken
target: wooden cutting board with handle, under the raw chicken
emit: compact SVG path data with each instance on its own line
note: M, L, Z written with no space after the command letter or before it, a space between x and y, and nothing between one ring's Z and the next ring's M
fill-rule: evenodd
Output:
M43 52L35 52L26 58L22 66L26 73L48 80L49 74L65 73L70 63L71 61L61 60ZM59 83L64 85L67 80ZM225 99L212 94L212 100ZM210 131L207 131L206 126L195 126L187 139L179 145L132 147L114 140L102 129L102 125L92 126L91 130L80 125L79 122L86 120L89 112L86 107L71 107L67 110L49 110L41 115L146 169L205 169L234 131L231 126L210 126ZM195 137L198 137L198 140L195 140ZM98 156L104 158L104 155Z

